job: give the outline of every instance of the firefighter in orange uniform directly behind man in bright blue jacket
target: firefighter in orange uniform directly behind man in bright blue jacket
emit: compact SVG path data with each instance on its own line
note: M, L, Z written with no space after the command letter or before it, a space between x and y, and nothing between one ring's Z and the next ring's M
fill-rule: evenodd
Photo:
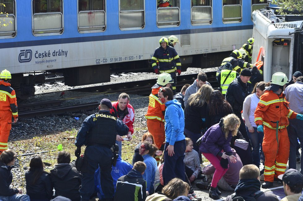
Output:
M158 92L161 87L171 87L173 78L168 73L161 73L158 76L157 83L152 87L152 93L149 95L149 105L147 109L147 128L154 138L154 143L160 149L165 142L164 114L165 104L158 100Z

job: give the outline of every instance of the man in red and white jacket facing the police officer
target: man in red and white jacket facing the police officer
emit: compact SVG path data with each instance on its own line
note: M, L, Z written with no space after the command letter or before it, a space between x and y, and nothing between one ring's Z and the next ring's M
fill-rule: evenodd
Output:
M128 126L129 131L127 134L128 140L130 141L132 139L132 135L134 133L134 120L135 120L135 111L133 106L129 104L130 102L130 96L127 93L121 93L119 95L118 101L112 102L112 106L116 108L118 118L121 119L123 123ZM114 113L114 109L110 110L110 113ZM119 155L121 156L121 150L122 150L122 141L123 137L120 136L119 140L116 140L116 144L119 145Z

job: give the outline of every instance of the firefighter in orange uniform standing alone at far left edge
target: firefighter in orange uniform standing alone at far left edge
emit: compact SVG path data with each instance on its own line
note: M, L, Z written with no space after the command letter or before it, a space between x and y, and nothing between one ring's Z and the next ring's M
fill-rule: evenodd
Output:
M3 70L0 73L0 154L7 150L8 136L11 130L11 116L14 123L18 121L18 108L16 93L11 84L10 71Z

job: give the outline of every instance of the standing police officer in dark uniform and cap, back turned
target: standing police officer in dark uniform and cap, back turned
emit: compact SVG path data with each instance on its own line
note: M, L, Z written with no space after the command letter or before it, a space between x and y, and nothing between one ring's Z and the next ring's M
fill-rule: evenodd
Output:
M128 127L115 115L109 113L112 109L110 100L104 98L99 105L99 113L88 116L78 131L75 145L75 156L79 158L81 146L86 145L81 173L82 201L88 201L94 193L94 172L100 166L101 187L105 194L102 201L112 201L114 186L112 180L113 149L116 139L127 135ZM118 135L117 135L118 134ZM119 136L120 135L120 136Z

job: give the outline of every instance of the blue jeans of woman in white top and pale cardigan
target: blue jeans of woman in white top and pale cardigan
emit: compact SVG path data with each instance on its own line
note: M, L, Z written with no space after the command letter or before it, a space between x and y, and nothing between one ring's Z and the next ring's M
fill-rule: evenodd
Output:
M246 132L248 134L248 137L250 139L250 142L252 143L252 163L254 165L257 165L257 167L260 167L260 148L262 149L262 142L264 138L264 133L258 133L257 128L253 127L254 132L251 133L248 130L248 127L246 127Z

